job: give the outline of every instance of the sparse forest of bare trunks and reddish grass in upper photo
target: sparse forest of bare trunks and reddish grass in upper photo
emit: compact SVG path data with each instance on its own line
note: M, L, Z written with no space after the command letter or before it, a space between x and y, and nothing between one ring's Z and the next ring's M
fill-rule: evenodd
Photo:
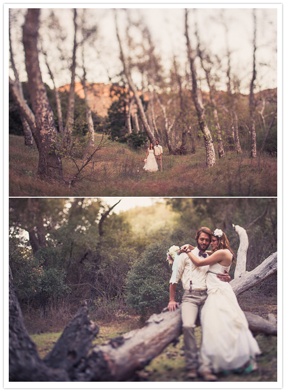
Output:
M156 10L10 8L10 196L276 196L276 16L237 12L238 60L245 26L229 12L178 9L179 30L166 14L177 39L166 52ZM102 75L110 104L98 114ZM156 139L164 169L147 174Z

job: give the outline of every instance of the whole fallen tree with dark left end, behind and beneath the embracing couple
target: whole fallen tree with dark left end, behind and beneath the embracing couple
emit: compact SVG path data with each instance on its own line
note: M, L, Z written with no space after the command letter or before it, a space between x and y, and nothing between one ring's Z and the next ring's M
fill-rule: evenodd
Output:
M230 282L236 295L277 272L277 252L251 272ZM253 334L277 335L277 323L246 312ZM9 381L126 381L143 369L182 333L180 309L151 316L141 329L95 346L98 326L89 320L86 304L65 328L44 360L24 326L9 268Z

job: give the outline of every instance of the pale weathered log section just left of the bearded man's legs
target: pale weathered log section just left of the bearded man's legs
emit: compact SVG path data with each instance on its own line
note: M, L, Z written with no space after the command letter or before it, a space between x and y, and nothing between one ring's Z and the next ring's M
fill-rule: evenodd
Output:
M180 310L175 312L161 312L151 316L145 326L123 336L111 339L104 345L93 349L86 364L89 374L85 369L77 375L80 380L87 380L91 371L96 367L93 358L103 357L110 373L100 374L100 381L124 381L133 376L135 371L143 369L165 347L176 342L182 333ZM98 362L98 361L97 361ZM91 381L95 377L92 376ZM98 381L98 379L97 379Z

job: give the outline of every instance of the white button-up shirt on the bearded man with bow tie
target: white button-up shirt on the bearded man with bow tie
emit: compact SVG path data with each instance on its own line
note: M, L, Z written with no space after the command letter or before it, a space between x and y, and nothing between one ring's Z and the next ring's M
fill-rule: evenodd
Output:
M203 256L199 256L199 249L197 247L195 247L191 252L198 259L200 260L204 259ZM209 257L209 255L207 255L207 257ZM178 283L178 281L181 279L184 290L190 289L190 265L191 265L191 281L192 281L191 289L206 290L207 289L206 280L209 271L209 265L196 267L194 263L191 261L191 259L189 258L189 256L187 255L187 253L181 253L178 257L176 283ZM175 273L175 271L173 271L173 273Z

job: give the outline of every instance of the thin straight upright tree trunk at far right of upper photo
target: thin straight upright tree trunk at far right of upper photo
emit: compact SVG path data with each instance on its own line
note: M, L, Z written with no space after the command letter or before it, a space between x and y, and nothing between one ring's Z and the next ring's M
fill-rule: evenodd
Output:
M255 131L255 97L254 97L254 82L256 79L256 13L255 9L253 10L253 24L254 24L254 32L253 32L253 72L252 79L250 83L250 94L249 94L249 120L250 120L250 135L251 135L251 146L250 146L250 157L256 158L256 131Z

